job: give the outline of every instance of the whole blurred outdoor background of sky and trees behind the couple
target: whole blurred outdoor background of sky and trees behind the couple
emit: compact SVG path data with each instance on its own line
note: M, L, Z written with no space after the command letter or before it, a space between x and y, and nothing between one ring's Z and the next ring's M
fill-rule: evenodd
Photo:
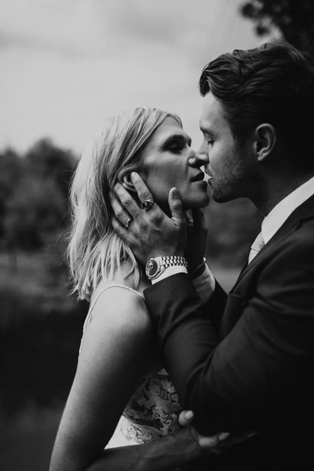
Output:
M311 0L0 3L0 469L48 470L87 303L63 260L83 145L133 106L178 113L198 148L202 68L272 37L314 52ZM226 288L262 217L210 202L207 258Z

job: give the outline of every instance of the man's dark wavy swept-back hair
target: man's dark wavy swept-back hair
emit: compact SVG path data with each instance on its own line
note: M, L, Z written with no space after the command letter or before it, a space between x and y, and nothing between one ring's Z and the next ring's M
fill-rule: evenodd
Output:
M204 67L199 88L202 96L210 91L220 102L239 145L247 132L266 122L275 127L292 161L314 167L312 56L281 40L235 50Z

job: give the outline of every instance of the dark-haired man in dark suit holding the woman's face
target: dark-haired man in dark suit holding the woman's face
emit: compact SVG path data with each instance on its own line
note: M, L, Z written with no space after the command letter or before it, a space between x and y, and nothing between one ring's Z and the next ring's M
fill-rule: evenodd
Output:
M184 267L149 261L184 255L176 189L170 219L133 175L147 209L117 185L128 213L120 210L114 226L152 278L145 299L193 425L204 435L254 432L226 448L213 469L304 469L314 461L313 60L282 41L223 54L203 70L200 91L202 159L190 165L208 156L213 198L247 197L265 216L235 287L227 296L199 261L196 273L209 281L203 304Z

